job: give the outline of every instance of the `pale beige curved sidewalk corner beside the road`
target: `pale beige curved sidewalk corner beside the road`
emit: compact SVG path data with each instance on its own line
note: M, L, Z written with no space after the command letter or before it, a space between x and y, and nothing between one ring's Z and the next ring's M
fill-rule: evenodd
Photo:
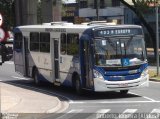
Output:
M1 113L54 113L64 104L54 96L0 82ZM65 109L68 104L65 102Z

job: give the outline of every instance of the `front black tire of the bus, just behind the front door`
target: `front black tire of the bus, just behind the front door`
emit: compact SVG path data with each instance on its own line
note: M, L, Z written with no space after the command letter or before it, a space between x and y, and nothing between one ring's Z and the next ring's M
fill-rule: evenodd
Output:
M81 83L80 83L80 78L79 78L78 75L76 75L75 89L76 89L76 93L78 95L82 95L83 91L82 91L82 86L81 86Z

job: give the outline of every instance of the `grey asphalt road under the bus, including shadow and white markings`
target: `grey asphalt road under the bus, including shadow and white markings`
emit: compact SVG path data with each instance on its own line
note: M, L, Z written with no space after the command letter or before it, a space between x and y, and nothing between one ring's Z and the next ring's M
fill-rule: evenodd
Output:
M53 87L51 84L35 86L32 80L15 73L12 62L0 67L0 80L19 87L40 88L68 101L69 108L63 113L42 114L41 119L160 119L159 82L150 81L148 88L131 90L125 96L118 92L87 91L83 96L78 96L66 87ZM36 114L23 114L23 117L36 119L34 115Z

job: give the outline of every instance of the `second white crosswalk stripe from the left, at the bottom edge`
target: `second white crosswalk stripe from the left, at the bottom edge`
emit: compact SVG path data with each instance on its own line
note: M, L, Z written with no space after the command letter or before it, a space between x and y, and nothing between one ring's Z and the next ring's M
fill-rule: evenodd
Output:
M95 114L90 115L86 119L99 119L99 118L101 119L105 117L106 113L108 113L109 111L110 109L100 109Z

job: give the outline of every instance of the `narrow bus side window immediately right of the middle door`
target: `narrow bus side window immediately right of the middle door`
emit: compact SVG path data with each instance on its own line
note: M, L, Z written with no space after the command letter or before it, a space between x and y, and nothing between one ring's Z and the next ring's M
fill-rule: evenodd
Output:
M66 34L61 34L61 54L65 55L67 53L67 42L66 42Z

